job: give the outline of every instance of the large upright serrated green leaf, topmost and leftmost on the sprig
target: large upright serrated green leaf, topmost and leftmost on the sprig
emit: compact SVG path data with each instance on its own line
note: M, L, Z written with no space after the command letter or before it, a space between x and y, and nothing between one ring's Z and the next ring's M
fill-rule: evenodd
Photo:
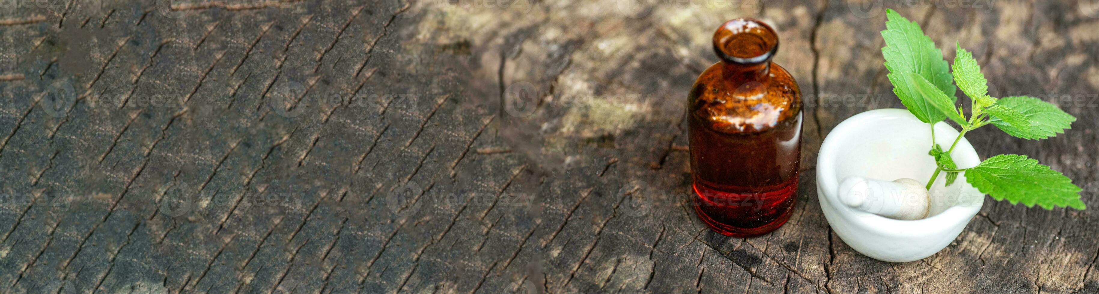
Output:
M957 88L954 87L950 66L943 59L943 52L935 47L935 43L923 34L915 22L891 9L886 10L886 15L889 20L886 21L886 30L881 31L881 37L886 42L881 55L889 69L887 77L893 84L893 93L912 115L924 123L937 123L946 118L945 114L922 99L906 74L913 72L923 77L954 104L957 101L954 95Z

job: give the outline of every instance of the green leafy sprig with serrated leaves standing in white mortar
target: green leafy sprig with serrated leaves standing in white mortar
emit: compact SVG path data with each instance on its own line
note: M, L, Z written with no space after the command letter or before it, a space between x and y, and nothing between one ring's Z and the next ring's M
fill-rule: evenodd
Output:
M928 180L928 190L941 172L946 172L946 185L953 184L958 174L964 173L966 182L998 201L1022 203L1028 207L1037 204L1046 210L1056 206L1086 207L1080 201L1080 188L1073 184L1068 177L1026 156L997 155L976 167L958 168L951 152L969 131L991 124L1011 136L1044 139L1070 128L1076 117L1055 104L1032 97L990 97L988 81L973 54L957 45L951 70L942 50L923 34L919 24L891 9L886 14L886 30L881 31L886 46L881 48L881 55L889 69L893 93L912 115L932 126L928 155L934 158L937 168ZM969 115L961 105L955 105L957 97L954 93L957 89L970 99ZM962 131L954 143L943 150L934 140L934 124L947 118L957 123Z

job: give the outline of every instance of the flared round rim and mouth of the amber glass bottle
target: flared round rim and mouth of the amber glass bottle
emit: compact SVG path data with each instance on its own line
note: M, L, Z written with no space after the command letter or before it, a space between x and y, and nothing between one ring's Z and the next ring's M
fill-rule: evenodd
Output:
M731 20L713 33L713 50L726 63L763 64L778 50L778 34L759 20Z

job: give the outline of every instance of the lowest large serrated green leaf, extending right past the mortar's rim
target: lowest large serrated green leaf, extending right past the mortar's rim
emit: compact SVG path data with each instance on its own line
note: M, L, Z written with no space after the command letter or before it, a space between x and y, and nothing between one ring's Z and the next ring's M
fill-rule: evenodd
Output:
M996 200L1046 210L1056 206L1084 210L1080 188L1059 171L1022 155L998 155L966 169L966 181Z

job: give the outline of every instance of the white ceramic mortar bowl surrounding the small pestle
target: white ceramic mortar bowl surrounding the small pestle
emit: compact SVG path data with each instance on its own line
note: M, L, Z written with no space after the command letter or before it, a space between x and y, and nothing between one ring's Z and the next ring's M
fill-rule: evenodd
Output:
M934 129L935 142L944 147L951 146L958 135L942 122ZM854 177L915 179L925 184L935 171L935 159L928 155L929 149L931 126L907 110L872 110L832 128L817 155L817 192L824 217L836 236L863 255L890 262L920 260L954 241L985 200L980 191L966 182L965 174L958 174L950 186L944 185L946 172L939 174L928 191L926 217L921 219L881 216L875 212L884 212L873 205L859 208L865 200L857 203L842 196L841 182ZM951 155L959 168L980 163L977 151L965 138L958 140Z

